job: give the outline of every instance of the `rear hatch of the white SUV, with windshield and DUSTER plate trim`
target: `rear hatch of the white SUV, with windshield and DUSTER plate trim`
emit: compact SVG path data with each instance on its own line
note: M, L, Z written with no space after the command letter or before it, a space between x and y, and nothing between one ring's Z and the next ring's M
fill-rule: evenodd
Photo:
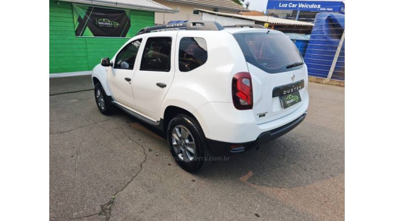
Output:
M301 106L308 75L288 36L273 30L233 33L247 62L257 124L283 117ZM299 93L299 94L298 94Z

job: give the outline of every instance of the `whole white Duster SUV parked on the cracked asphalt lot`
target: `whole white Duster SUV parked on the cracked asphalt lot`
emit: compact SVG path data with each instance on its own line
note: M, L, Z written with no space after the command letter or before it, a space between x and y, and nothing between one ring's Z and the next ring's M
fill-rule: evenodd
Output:
M178 165L191 172L213 156L289 132L309 102L295 44L257 25L143 28L111 60L101 60L92 80L101 113L116 106L163 130Z

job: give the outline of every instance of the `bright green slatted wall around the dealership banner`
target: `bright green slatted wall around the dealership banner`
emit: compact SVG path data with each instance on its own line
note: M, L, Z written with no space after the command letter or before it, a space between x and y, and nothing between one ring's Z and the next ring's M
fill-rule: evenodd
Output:
M75 37L72 5L49 1L49 73L90 71L102 57L112 57L129 38ZM151 11L131 10L132 35L153 26Z

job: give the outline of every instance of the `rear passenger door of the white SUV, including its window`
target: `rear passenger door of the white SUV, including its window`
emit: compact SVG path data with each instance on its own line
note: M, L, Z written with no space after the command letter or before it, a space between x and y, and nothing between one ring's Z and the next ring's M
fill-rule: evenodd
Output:
M151 33L144 40L132 85L135 108L143 115L160 120L165 94L174 78L177 31Z

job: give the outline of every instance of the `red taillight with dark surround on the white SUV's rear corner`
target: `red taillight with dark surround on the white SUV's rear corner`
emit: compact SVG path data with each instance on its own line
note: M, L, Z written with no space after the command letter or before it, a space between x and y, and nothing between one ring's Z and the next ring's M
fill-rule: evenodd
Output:
M232 103L238 110L253 108L252 77L249 72L239 72L232 77Z

